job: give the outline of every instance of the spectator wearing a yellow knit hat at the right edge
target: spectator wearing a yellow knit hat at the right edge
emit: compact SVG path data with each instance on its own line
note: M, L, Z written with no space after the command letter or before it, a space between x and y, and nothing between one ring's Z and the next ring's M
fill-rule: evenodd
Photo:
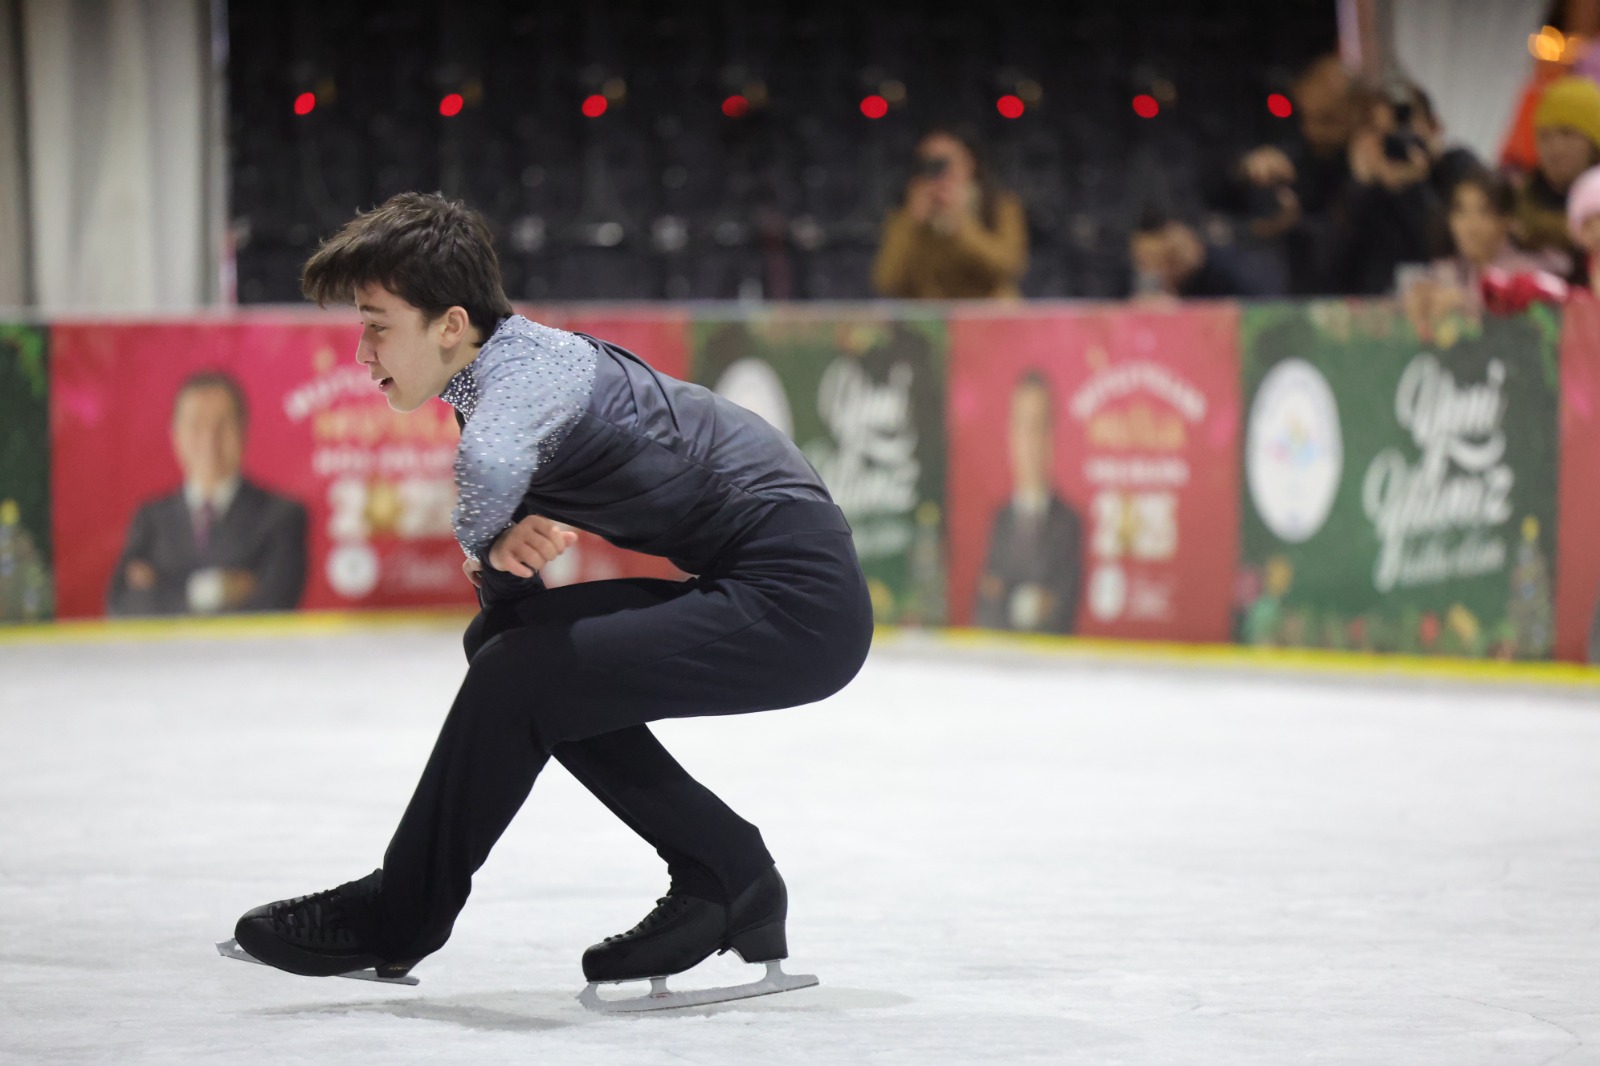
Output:
M1517 187L1517 242L1528 251L1568 256L1578 248L1566 229L1566 194L1578 176L1600 163L1600 86L1589 78L1558 78L1533 114L1538 166Z

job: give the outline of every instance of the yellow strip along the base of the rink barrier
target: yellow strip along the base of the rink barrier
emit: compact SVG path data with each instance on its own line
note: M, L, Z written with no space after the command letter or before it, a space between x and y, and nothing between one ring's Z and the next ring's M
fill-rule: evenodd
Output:
M306 637L394 627L459 629L470 608L392 611L288 611L221 618L109 618L0 626L0 647L144 640L229 640ZM1373 655L1320 648L1256 648L1232 643L1174 643L1053 637L982 629L878 626L878 647L965 650L1085 663L1147 663L1202 669L1306 672L1346 677L1406 677L1456 683L1534 685L1600 693L1600 667L1582 663L1502 663L1496 659Z

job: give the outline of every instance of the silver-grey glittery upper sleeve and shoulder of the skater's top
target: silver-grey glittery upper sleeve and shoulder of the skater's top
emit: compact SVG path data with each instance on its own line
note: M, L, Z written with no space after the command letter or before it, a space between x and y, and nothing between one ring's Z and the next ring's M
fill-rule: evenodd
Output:
M483 560L510 525L542 463L571 432L595 381L595 351L571 333L531 327L496 335L469 367L475 395L456 451L453 525Z

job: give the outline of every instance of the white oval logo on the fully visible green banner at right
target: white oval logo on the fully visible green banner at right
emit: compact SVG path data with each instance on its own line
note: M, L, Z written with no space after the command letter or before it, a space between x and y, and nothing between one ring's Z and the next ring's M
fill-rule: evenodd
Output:
M1250 407L1245 480L1256 514L1280 541L1310 539L1333 511L1342 469L1339 405L1328 379L1302 359L1283 360Z

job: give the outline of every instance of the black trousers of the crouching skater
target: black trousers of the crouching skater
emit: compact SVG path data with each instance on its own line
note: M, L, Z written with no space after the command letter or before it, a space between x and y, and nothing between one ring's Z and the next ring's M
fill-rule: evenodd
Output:
M373 935L437 951L472 874L554 755L666 860L675 890L726 901L773 858L760 831L646 722L822 699L861 669L872 607L830 504L786 504L690 581L594 581L490 603L467 677L384 853Z

